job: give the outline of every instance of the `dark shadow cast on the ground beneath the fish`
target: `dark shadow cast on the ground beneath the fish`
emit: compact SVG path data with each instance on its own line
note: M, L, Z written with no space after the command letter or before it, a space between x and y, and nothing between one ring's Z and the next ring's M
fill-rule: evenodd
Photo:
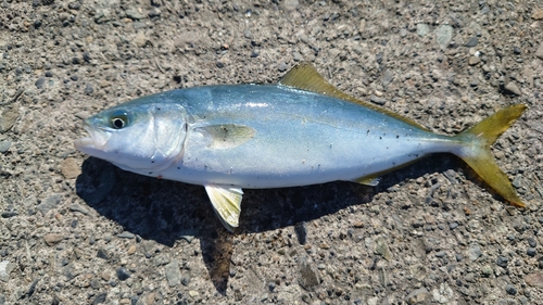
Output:
M405 179L457 166L454 157L437 154L384 175L377 187L338 181L244 190L236 233L263 232L311 221L349 206L366 204L375 194ZM203 187L144 177L88 157L77 177L76 192L100 215L144 240L174 246L181 239L198 238L210 278L217 292L226 295L235 234L223 228ZM300 237L299 241L303 243Z

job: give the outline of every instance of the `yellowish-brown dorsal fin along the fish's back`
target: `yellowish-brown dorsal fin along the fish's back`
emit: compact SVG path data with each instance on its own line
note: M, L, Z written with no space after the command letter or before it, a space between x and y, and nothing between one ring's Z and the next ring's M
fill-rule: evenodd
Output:
M418 123L404 117L397 113L393 113L389 110L382 109L380 106L374 105L368 102L361 101L355 99L348 93L341 91L340 89L333 87L330 82L326 81L326 79L317 72L317 69L310 63L302 63L294 66L291 71L289 71L282 78L279 80L279 85L293 87L296 89L311 91L319 94L325 94L328 97L337 98L340 100L353 102L355 104L359 104L362 106L368 107L370 110L375 110L386 115L390 115L394 118L403 120L414 127L420 128L422 130L428 130L428 128L420 126Z

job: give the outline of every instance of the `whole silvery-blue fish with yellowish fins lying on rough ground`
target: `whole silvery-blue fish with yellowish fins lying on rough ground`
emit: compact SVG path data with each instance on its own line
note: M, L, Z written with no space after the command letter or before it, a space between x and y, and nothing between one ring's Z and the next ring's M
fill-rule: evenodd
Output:
M200 185L226 229L239 227L243 189L330 181L376 186L432 153L452 153L510 204L522 207L492 143L527 109L509 105L455 136L351 97L300 64L274 85L164 91L83 123L75 148L119 168Z

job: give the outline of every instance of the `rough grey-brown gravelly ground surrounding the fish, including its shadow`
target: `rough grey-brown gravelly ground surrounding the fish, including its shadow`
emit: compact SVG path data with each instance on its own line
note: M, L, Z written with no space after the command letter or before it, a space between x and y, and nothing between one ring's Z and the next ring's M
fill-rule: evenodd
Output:
M451 2L0 1L0 304L543 304L543 4ZM529 105L493 148L528 207L440 154L247 190L230 234L202 187L73 147L108 106L304 61L439 134Z

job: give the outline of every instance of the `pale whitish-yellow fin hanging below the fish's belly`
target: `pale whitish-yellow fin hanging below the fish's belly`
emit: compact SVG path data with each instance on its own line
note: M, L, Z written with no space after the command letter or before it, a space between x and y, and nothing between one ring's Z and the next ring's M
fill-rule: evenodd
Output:
M223 223L228 231L233 232L239 226L241 199L243 195L241 188L207 185L205 186L205 191L220 223Z

